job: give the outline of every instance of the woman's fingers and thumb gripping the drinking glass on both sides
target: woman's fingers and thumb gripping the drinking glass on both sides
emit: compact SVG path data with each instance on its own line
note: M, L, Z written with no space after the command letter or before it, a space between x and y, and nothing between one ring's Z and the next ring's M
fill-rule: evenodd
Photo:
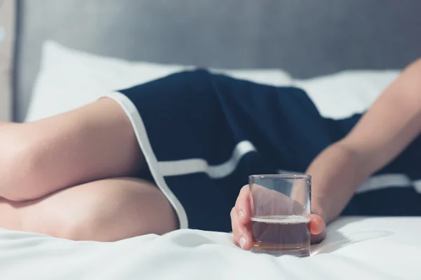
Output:
M273 192L268 190L268 192ZM283 194L278 193L280 196ZM273 195L273 194L272 194ZM234 244L244 250L250 250L252 246L252 215L250 191L248 185L244 186L231 211L232 232L234 233ZM288 198L289 199L289 198ZM290 199L292 201L292 199ZM286 202L286 196L280 197L280 201ZM282 204L281 202L281 204ZM319 243L326 236L325 222L319 215L310 215L309 232L312 244Z

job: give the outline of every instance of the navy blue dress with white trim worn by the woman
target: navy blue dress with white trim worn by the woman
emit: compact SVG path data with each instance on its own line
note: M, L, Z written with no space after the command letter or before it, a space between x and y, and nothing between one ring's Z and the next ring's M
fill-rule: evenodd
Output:
M206 70L108 95L131 120L149 171L181 228L229 232L250 174L304 173L359 120L323 118L305 91ZM375 131L373 131L375 133ZM344 215L420 215L421 138L373 175Z

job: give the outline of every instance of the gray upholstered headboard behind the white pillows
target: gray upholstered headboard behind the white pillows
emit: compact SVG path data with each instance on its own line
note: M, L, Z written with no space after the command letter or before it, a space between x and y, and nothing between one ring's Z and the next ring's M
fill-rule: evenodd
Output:
M20 0L17 23L18 121L45 39L130 60L279 67L302 78L396 69L421 55L419 0Z

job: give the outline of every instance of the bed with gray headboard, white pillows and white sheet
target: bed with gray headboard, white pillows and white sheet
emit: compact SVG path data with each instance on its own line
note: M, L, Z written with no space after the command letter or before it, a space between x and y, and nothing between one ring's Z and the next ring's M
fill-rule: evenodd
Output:
M300 86L324 116L362 112L420 57L420 11L417 0L0 1L0 121L194 66ZM99 243L0 229L0 279L420 279L420 231L417 217L342 217L311 257L274 258L222 232Z

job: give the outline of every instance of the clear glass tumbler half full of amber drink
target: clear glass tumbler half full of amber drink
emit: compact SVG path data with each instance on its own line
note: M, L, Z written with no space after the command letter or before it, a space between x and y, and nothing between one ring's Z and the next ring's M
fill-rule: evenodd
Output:
M310 254L310 175L250 175L255 253Z

